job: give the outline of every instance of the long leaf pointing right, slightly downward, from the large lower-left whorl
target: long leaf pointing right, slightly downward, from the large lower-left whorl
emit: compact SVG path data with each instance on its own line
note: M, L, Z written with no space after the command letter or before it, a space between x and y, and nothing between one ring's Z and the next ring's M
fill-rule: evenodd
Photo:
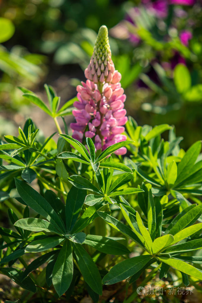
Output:
M84 243L105 254L125 255L130 253L125 245L102 236L87 235Z

